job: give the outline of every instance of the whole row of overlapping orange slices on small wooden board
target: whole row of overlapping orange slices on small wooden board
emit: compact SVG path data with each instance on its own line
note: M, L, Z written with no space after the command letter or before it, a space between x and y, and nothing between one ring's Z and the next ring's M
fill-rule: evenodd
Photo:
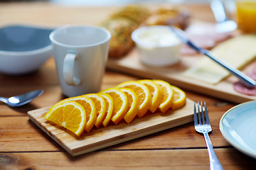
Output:
M94 125L106 127L110 120L115 124L122 119L131 123L148 111L154 113L159 109L165 113L185 104L186 94L178 87L163 80L143 79L126 81L97 94L66 98L52 106L45 118L80 136L84 130L90 132Z

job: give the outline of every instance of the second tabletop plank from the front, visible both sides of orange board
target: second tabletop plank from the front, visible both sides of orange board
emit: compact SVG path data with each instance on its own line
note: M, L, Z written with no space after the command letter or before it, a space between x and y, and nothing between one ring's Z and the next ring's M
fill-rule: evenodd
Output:
M213 132L210 139L214 147L230 147L218 128L222 112L211 111L209 106L210 123ZM54 140L43 132L32 121L23 116L3 116L0 118L1 140L0 152L33 152L63 150ZM15 146L15 147L14 147ZM107 149L166 149L166 148L206 147L203 136L193 128L193 123L157 132L137 140L114 145Z

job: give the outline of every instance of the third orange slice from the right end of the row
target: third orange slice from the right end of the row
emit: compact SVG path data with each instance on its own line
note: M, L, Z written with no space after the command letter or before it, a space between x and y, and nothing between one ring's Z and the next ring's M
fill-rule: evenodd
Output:
M163 94L161 94L159 86L157 86L157 84L154 81L149 79L139 80L138 82L145 84L149 88L149 91L152 97L152 102L149 110L152 113L154 113L156 109L159 108L161 103L161 98L163 97Z

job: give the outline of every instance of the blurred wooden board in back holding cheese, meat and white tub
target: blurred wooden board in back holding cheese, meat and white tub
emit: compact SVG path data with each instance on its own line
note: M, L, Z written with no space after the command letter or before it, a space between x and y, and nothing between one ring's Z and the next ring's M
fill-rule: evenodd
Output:
M107 69L112 69L118 72L133 74L146 79L163 79L174 86L181 89L195 91L201 94L206 94L216 98L242 103L245 101L255 100L256 96L247 96L240 94L233 89L233 83L238 81L233 75L220 81L218 84L207 84L203 81L197 81L183 76L183 72L189 67L196 64L203 55L182 55L181 61L178 64L169 67L150 67L139 61L139 54L134 48L129 54L121 59L109 59L107 61ZM256 63L247 66L242 72L247 72L256 67Z

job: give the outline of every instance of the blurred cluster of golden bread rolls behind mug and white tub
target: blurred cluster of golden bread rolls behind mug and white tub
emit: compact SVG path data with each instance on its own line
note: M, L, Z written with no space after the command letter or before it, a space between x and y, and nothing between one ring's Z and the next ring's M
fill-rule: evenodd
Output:
M100 26L110 30L110 58L123 57L134 47L132 32L142 26L174 25L178 28L188 26L188 13L179 11L178 8L160 8L149 11L144 6L124 6L113 13L109 18L100 23Z

